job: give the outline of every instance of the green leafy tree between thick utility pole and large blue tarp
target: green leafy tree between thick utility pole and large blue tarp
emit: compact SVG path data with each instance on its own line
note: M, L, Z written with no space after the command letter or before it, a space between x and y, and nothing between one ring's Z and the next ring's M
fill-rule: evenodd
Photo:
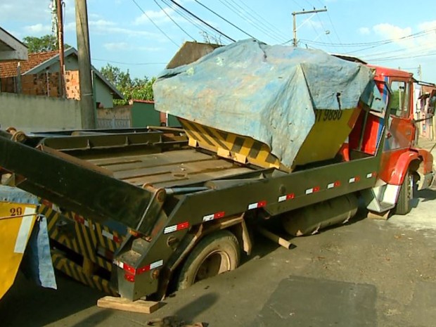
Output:
M153 100L153 83L156 78L143 79L130 77L129 70L123 72L120 68L107 64L101 68L101 74L122 93L124 100L114 100L115 105L126 105L130 100Z

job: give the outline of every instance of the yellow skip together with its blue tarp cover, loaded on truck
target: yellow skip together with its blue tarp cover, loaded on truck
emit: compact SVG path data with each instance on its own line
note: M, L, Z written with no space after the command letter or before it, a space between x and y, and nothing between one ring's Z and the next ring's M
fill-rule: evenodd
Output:
M382 110L366 66L254 39L164 70L153 92L191 146L287 172L334 158L362 108Z

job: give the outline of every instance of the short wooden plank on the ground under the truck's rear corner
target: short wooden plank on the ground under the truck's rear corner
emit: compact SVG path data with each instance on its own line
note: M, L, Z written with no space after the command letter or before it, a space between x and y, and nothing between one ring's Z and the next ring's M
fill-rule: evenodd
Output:
M97 307L117 309L141 314L151 314L160 307L160 302L136 300L130 301L124 297L105 296L97 301Z

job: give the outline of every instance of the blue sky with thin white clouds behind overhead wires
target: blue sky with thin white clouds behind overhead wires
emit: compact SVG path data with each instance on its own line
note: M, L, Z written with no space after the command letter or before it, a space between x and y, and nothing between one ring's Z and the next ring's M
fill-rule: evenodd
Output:
M51 2L0 0L0 26L20 40L51 34ZM75 2L64 3L65 42L76 47ZM230 44L254 37L292 46L292 13L326 8L295 15L298 46L356 56L436 82L430 0L87 0L87 8L91 63L98 69L109 63L132 77L158 75L185 41Z

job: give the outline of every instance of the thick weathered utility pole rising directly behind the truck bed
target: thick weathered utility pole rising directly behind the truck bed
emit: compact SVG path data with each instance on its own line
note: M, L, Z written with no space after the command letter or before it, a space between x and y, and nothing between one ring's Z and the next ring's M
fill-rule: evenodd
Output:
M96 128L96 112L94 110L91 82L88 11L86 9L86 0L75 0L75 4L82 127L84 129L94 129Z

